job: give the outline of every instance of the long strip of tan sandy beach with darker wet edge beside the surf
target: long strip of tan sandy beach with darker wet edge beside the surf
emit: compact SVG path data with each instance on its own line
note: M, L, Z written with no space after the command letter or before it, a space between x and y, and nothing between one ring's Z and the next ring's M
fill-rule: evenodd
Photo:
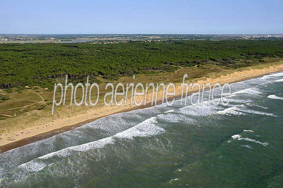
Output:
M239 71L235 71L233 73L230 73L228 75L224 75L224 77L228 76L228 79L226 78L226 80L222 80L221 77L223 75L220 75L218 79L211 79L211 78L202 77L203 79L205 79L205 78L206 79L205 80L197 80L196 82L198 82L198 83L200 83L200 82L201 83L202 82L208 83L209 82L213 86L215 83L217 83L217 80L218 80L218 82L223 82L223 83L220 83L221 85L224 84L224 82L231 84L231 83L240 82L240 81L243 81L243 80L249 80L249 79L252 79L252 78L262 77L264 75L269 75L271 73L283 71L283 65L276 65L275 66L275 65L270 64L268 68L263 68L263 69L253 69L252 67L248 67L248 68L250 68L250 70L239 70ZM247 72L247 75L243 74L243 72L245 72L245 71ZM252 73L252 72L254 72L254 73ZM248 73L251 73L251 74L248 74ZM233 74L235 74L235 76L236 75L239 75L239 76L233 77L233 76L231 76ZM230 75L230 77L229 77L229 75ZM209 81L209 80L211 80L211 81ZM214 80L214 81L212 81L212 80ZM176 86L176 91L178 91L178 88L180 88L180 86ZM189 94L191 94L193 92L195 92L195 91L190 91ZM176 92L176 95L170 97L169 101L180 97L180 95L181 95L180 92L179 93ZM158 100L157 104L161 104L161 103L162 103L162 99ZM52 122L52 125L55 124L54 126L52 126L51 124L48 125L48 126L44 126L44 125L34 126L34 127L23 130L24 132L26 132L26 134L19 135L19 137L18 137L19 140L10 141L10 143L7 143L8 142L7 138L9 138L9 137L6 136L7 138L4 138L2 141L0 141L0 153L9 151L9 150L15 149L17 147L21 147L21 146L33 143L33 142L36 142L36 141L39 141L39 140L43 140L43 139L52 137L54 135L58 135L62 132L66 132L66 131L75 129L77 127L80 127L81 125L93 122L97 119L100 119L100 118L108 116L108 115L112 115L112 114L115 114L115 113L129 112L131 110L148 108L148 107L151 107L151 106L154 106L154 105L151 105L151 102L148 102L148 103L146 103L146 105L141 105L141 106L132 105L132 106L121 106L121 107L111 106L110 108L104 107L104 109L103 109L104 112L101 111L102 109L96 109L96 110L93 110L89 113L80 114L80 115L72 116L72 117L69 117L69 118L58 119L58 120ZM108 110L108 108L109 108L109 110ZM103 113L101 113L100 115L97 115L97 113L99 113L98 111L101 111ZM93 114L96 114L96 115L93 115ZM92 117L93 116L97 116L97 117L88 118L87 116L89 116L89 115L92 116ZM69 120L66 120L66 119L69 119ZM72 119L72 121L71 121L71 119ZM83 120L81 120L81 119L83 119ZM56 127L56 125L58 125L58 126ZM39 129L39 127L41 127L41 129ZM37 131L33 131L32 134L30 134L30 133L28 134L28 131L33 130L33 129L35 129ZM22 130L19 130L18 132L21 132L21 131ZM8 133L8 134L9 135L15 135L16 133L11 132L11 133ZM8 135L8 134L6 134L6 135Z

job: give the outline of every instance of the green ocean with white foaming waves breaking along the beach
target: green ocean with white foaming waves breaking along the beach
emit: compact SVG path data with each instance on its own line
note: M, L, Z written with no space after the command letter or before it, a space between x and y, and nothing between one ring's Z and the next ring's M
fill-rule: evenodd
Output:
M228 106L97 119L0 154L0 187L283 187L282 89L275 73L231 84Z

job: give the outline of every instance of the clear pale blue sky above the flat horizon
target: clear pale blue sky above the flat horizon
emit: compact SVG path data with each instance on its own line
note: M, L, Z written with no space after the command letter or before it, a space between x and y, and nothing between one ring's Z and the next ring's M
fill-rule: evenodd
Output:
M282 34L282 0L4 0L0 33Z

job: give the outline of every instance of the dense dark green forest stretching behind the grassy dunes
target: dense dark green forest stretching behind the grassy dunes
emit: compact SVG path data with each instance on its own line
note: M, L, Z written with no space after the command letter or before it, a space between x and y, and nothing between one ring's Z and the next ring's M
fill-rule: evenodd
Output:
M115 79L139 73L174 71L177 66L218 62L238 68L237 59L283 57L283 40L131 41L117 44L0 44L0 88L50 87L66 74L73 80L90 75Z

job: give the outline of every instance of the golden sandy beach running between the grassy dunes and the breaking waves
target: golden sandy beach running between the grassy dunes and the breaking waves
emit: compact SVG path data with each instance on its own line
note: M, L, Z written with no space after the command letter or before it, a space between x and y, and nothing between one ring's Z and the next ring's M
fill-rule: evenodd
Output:
M282 61L280 63L282 63ZM213 75L197 78L196 80L193 81L198 82L201 86L203 83L211 83L211 85L214 85L215 83L220 83L220 84L233 83L233 82L238 82L241 80L246 80L253 77L267 75L279 71L283 71L283 64L272 65L270 67L266 67L262 69L256 69L253 67L249 69L245 68L245 69L240 69L239 71L233 71L231 73L227 73L226 75L224 75L223 72L215 73ZM171 96L171 98L180 96L182 92L180 83L176 84L175 86L176 86L176 95ZM135 105L132 106L122 105L122 106L109 106L109 107L103 106L97 109L93 108L89 110L89 112L84 114L79 114L68 118L57 119L48 124L42 124L40 126L33 126L28 129L17 130L2 134L1 136L2 140L0 141L0 152L5 152L10 149L26 145L28 143L37 140L42 140L51 137L53 135L59 134L64 131L68 131L82 124L92 122L98 118L110 114L126 112L137 108L149 107L151 106L150 104L151 97L149 96L151 95L148 93L148 98L147 98L148 103L146 106L138 106L138 107ZM142 98L144 98L144 96L142 96ZM158 92L158 99L159 100L162 99L162 92L161 93ZM14 141L13 138L15 139Z

